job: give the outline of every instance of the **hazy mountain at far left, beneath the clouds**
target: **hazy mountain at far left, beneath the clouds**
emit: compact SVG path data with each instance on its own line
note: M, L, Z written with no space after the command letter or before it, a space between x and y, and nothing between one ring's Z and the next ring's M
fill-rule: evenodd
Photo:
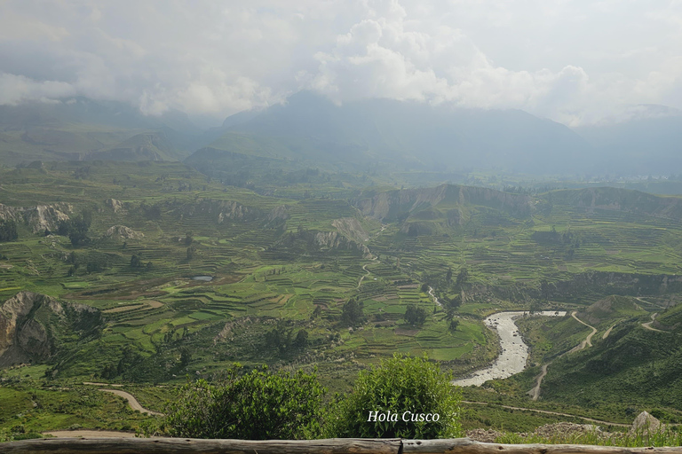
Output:
M82 160L116 149L128 152L102 154L101 158L150 159L149 153L130 152L140 145L127 141L139 142L140 137L132 138L139 135L163 137L169 143L165 152L174 151L160 153L158 159L175 159L194 151L200 134L186 114L170 111L146 116L136 107L115 101L67 98L0 106L0 162L6 165L31 160Z

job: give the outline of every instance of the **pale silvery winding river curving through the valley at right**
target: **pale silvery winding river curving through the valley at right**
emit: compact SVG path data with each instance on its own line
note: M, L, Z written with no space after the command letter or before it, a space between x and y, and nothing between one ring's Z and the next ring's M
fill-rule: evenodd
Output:
M488 328L496 330L499 335L502 353L497 356L495 363L491 366L472 372L470 376L464 379L452 380L452 384L461 387L480 386L488 380L506 379L526 369L528 346L521 339L519 327L514 323L514 320L523 317L524 314L527 312L497 312L487 317L484 322ZM534 315L563 317L566 315L566 311L544 310L535 312Z

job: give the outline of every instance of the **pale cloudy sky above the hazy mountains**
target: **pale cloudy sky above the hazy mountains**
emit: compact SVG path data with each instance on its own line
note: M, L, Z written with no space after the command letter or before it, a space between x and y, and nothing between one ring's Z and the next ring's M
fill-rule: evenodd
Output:
M219 124L298 90L569 126L682 109L682 0L0 0L0 104Z

